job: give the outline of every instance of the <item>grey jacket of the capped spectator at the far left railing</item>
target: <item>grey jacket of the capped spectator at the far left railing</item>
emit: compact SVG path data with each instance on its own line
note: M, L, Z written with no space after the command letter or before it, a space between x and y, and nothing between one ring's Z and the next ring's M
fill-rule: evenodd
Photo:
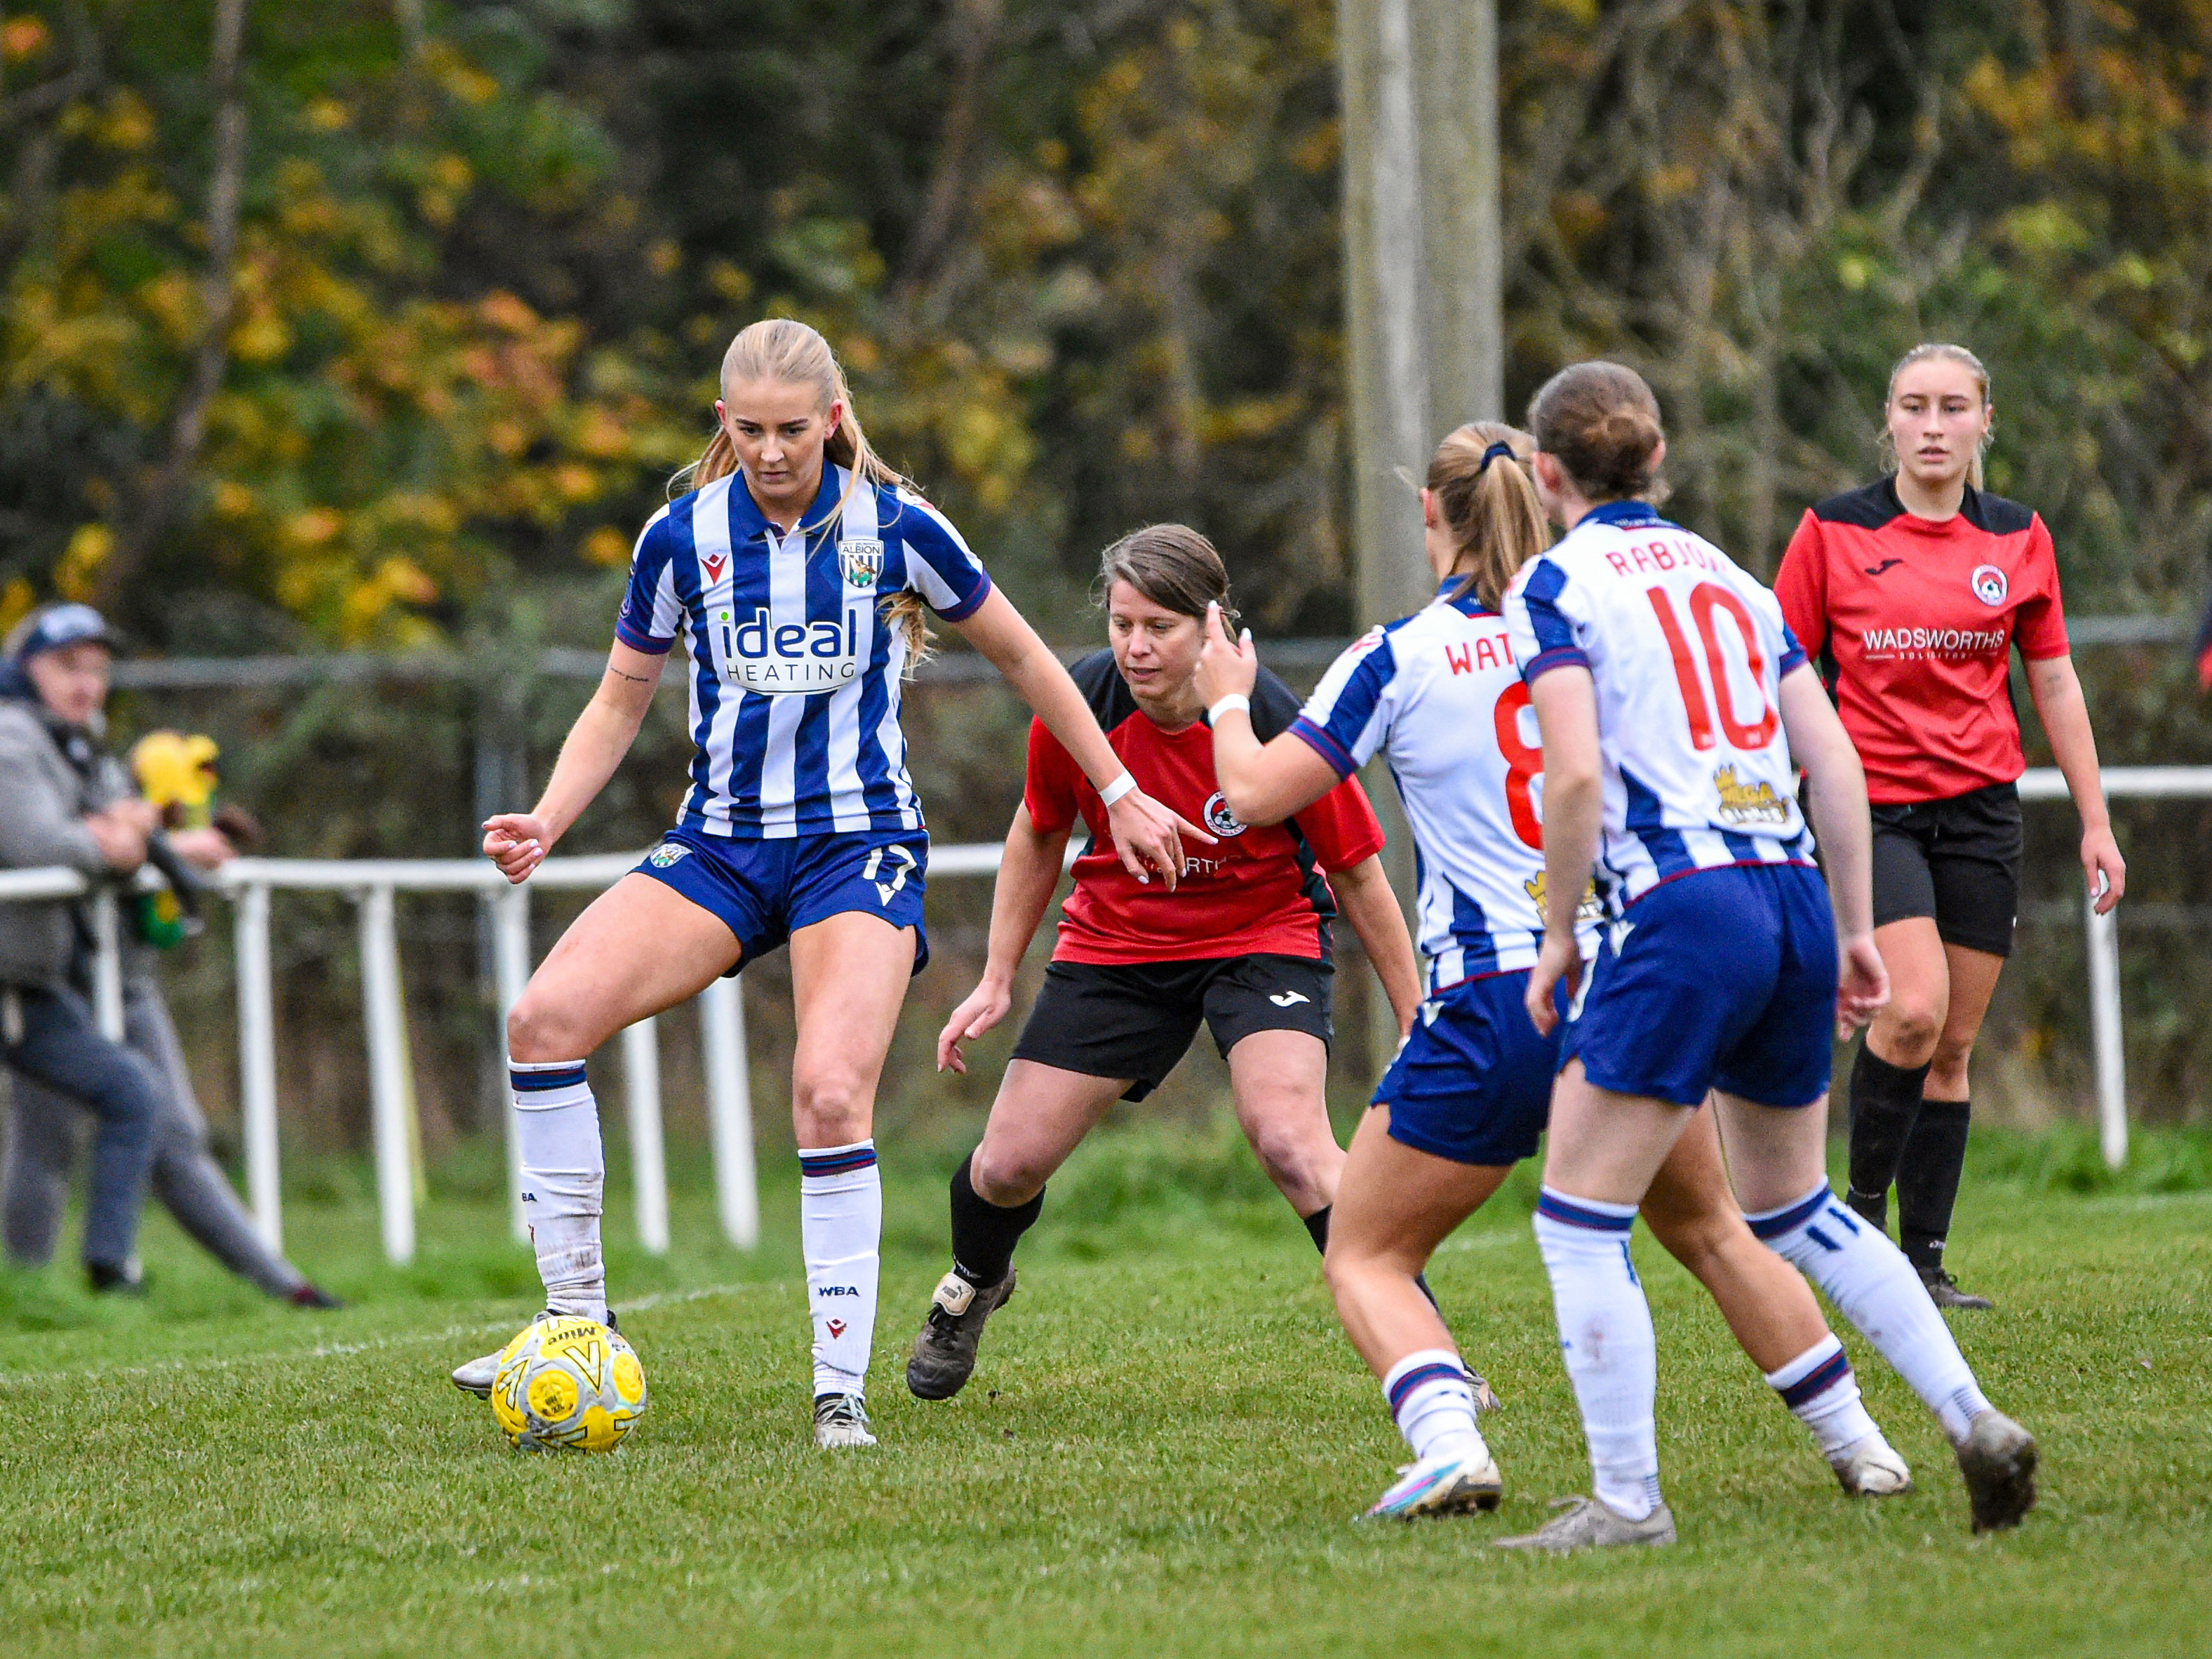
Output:
M15 664L0 664L0 869L69 865L106 874L84 816L104 805L104 768L80 772ZM13 692L13 695L11 695ZM88 741L88 739L84 739ZM55 987L77 949L75 900L0 900L0 984Z

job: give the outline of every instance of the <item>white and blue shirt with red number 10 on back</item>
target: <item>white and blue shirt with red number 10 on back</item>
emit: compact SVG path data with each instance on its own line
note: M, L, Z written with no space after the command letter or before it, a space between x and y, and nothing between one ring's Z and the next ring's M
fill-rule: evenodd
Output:
M1812 863L1781 721L1805 653L1765 584L1644 502L1608 502L1522 566L1504 611L1528 684L1566 666L1597 684L1615 914L1694 869Z

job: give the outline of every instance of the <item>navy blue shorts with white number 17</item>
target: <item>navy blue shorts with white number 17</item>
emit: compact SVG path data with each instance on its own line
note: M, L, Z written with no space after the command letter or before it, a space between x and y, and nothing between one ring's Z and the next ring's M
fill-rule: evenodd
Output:
M737 933L737 967L776 949L801 927L865 911L914 929L914 971L929 967L922 885L925 830L854 830L843 836L739 841L677 825L639 860L639 876L675 887ZM730 969L737 973L737 969Z

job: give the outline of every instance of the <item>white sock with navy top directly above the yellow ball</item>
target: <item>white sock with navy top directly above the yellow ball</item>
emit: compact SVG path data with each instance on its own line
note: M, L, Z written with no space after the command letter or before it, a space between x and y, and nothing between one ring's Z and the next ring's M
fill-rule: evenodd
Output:
M509 1062L509 1082L515 1091L515 1141L522 1146L522 1219L538 1252L546 1312L604 1321L599 1210L606 1155L584 1062Z

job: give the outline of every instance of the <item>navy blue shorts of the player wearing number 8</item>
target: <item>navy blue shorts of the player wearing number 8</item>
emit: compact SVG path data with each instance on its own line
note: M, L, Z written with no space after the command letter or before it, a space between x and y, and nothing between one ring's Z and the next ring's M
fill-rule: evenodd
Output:
M1559 1029L1537 1035L1526 993L1522 969L1460 980L1420 1004L1413 1035L1376 1084L1394 1141L1453 1164L1535 1157L1559 1071Z

